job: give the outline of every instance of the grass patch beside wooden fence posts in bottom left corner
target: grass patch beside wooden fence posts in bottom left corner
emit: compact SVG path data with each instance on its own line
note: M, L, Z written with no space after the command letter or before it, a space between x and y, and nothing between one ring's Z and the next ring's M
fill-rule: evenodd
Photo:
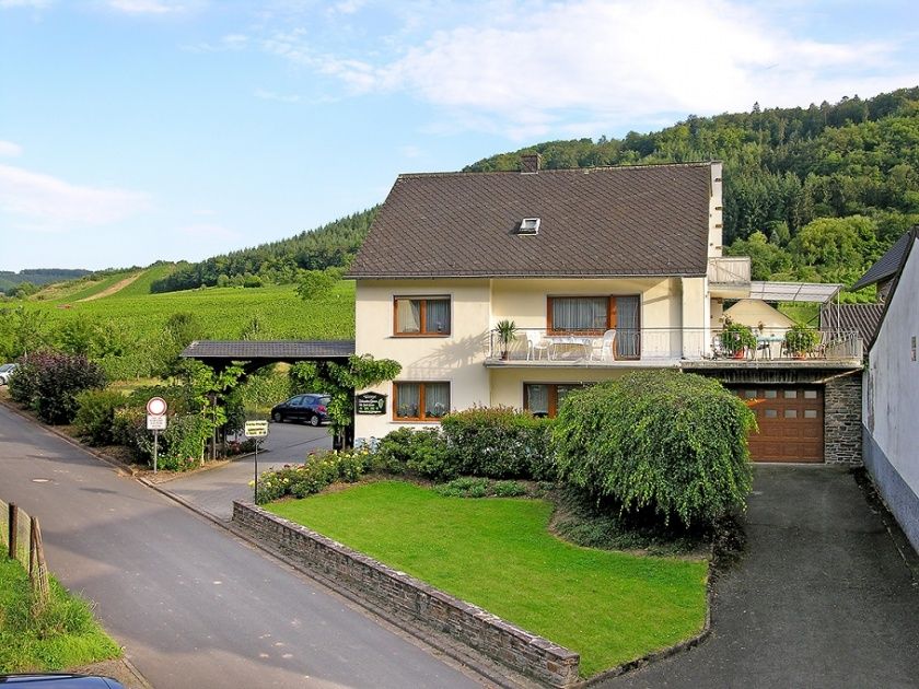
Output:
M30 619L25 570L14 560L0 560L0 674L60 670L121 656L85 602L54 579L50 588L48 607Z

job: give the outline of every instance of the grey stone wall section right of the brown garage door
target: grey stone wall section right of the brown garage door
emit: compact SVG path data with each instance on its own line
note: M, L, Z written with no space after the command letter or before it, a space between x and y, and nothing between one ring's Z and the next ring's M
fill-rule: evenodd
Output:
M861 371L830 378L824 388L824 462L862 463Z

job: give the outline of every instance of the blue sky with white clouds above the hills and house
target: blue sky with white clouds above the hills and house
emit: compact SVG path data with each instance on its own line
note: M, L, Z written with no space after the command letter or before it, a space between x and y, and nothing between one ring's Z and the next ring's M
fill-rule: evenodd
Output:
M0 270L293 236L556 139L919 85L915 0L0 0Z

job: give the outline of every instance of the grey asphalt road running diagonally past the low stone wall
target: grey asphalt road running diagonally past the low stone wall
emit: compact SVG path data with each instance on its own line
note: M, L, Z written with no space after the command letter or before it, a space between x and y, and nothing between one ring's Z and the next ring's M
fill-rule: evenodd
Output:
M50 479L34 482L34 479ZM477 682L167 498L0 408L0 495L154 687Z

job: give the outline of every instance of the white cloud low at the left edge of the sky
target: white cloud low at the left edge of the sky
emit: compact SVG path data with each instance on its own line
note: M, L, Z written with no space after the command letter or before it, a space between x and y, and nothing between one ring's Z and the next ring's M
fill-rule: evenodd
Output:
M149 201L148 195L137 191L79 186L0 165L0 211L44 230L117 222L143 211Z

